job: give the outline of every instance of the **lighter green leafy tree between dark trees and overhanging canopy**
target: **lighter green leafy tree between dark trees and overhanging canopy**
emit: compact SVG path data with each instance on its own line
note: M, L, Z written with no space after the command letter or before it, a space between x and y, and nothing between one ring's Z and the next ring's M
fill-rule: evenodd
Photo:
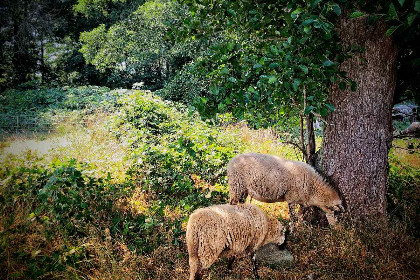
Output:
M78 6L76 6L78 7ZM148 1L111 24L100 24L80 36L86 61L110 70L119 84L143 82L160 89L179 70L185 50L166 38L168 22L182 12L174 1Z

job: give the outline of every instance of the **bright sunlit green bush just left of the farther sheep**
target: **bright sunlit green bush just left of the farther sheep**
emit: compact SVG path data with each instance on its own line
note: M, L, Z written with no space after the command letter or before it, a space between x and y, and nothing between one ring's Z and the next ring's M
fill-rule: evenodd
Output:
M137 91L121 103L115 133L130 143L130 173L140 178L143 188L188 209L209 204L209 190L197 187L192 176L212 185L226 183L226 164L240 143L186 107L155 95ZM214 191L211 196L226 194Z

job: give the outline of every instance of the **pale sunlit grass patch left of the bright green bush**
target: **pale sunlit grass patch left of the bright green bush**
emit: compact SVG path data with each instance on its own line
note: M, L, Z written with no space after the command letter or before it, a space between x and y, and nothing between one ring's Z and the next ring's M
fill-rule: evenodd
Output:
M83 172L95 177L107 177L111 182L123 182L130 162L126 159L125 143L118 142L106 127L107 115L89 116L88 127L73 122L60 124L59 132L49 135L11 136L2 149L2 161L31 161L41 165L66 161L71 158L83 162Z

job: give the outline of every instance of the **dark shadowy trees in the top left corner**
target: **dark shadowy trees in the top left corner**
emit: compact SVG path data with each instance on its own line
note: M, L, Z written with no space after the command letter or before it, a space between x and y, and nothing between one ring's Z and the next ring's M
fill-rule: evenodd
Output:
M77 0L5 0L0 4L0 90L103 83L78 52L91 22L73 12Z

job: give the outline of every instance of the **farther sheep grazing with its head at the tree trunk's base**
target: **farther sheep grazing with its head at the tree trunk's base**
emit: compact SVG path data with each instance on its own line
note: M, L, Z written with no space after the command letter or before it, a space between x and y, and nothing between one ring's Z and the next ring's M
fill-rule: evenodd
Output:
M262 202L287 201L293 222L295 204L318 206L331 225L335 224L334 211L344 210L337 191L303 162L242 154L229 162L227 174L230 204L243 203L248 195Z

